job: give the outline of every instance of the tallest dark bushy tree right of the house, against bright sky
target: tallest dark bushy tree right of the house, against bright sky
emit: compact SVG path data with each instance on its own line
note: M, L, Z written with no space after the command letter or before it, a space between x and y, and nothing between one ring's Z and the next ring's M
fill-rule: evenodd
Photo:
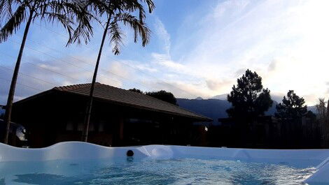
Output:
M228 115L246 121L264 115L273 103L269 89L262 87L262 77L250 70L237 79L237 87L233 85L228 101L232 103L232 108L226 110Z

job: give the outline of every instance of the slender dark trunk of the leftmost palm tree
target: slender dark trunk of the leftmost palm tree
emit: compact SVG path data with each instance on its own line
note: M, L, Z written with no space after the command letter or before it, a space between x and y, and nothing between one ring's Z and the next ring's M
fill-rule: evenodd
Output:
M16 87L16 82L17 82L17 78L18 78L18 72L20 71L20 61L22 60L23 50L25 47L25 41L27 40L27 34L29 33L29 26L31 24L32 18L33 18L33 11L30 11L29 19L27 20L27 25L25 26L22 43L20 44L20 52L18 53L18 58L16 61L15 70L13 73L13 78L12 78L11 84L10 84L7 105L6 105L6 113L5 113L5 117L4 117L5 124L6 124L6 133L5 133L5 138L3 140L3 143L5 143L5 144L8 144L11 110L13 109L13 99L14 99L14 95L15 95L15 87Z

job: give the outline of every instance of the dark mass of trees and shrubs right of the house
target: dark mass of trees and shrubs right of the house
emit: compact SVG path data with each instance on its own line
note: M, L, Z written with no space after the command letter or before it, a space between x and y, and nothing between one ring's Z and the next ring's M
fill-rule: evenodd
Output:
M273 101L255 72L247 70L237 79L228 101L232 104L227 110L229 118L209 128L211 146L300 149L325 147L329 141L328 108L323 99L316 105L316 115L307 111L304 98L290 90L276 105L274 117L265 116ZM321 120L325 124L319 124Z

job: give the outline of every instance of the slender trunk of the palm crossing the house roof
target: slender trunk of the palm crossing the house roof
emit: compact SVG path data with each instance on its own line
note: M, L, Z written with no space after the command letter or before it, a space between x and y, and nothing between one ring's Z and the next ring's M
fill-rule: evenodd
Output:
M94 68L94 75L92 77L92 84L91 84L91 87L90 87L89 100L88 100L87 110L86 110L86 114L85 114L85 128L83 129L83 138L82 138L82 140L84 142L87 142L87 140L88 140L88 132L89 132L89 124L90 124L90 114L92 112L92 99L93 99L93 94L94 94L94 84L96 82L99 61L100 61L101 56L102 56L103 45L104 45L104 41L105 41L105 38L106 38L107 31L109 29L110 21L111 21L111 17L107 21L106 27L104 29L104 34L103 34L103 38L102 38L101 47L99 47L99 52L98 52L98 57L97 57L97 61L96 61L96 66Z

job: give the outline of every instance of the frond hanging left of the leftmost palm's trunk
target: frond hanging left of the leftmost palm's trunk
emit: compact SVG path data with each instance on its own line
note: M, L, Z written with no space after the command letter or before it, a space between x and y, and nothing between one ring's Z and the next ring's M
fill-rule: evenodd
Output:
M24 22L26 14L25 6L21 5L17 8L15 13L13 13L6 24L1 27L0 43L5 42L9 36L11 36L13 33L16 33L16 31L20 29L20 24Z

